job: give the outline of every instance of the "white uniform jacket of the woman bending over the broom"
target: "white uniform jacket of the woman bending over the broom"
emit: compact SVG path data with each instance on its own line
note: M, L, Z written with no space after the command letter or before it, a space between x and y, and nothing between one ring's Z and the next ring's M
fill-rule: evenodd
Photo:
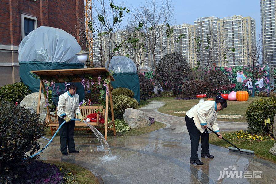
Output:
M197 129L203 133L205 128L204 125L211 124L214 132L219 132L217 125L217 103L211 100L206 100L203 103L199 103L192 107L186 115L189 118L193 118Z

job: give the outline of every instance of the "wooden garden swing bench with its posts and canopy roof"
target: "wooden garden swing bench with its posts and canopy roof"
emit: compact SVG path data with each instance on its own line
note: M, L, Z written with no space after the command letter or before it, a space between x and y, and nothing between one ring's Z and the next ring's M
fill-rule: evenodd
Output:
M94 80L93 81L98 81L98 75L100 74L108 74L108 71L105 68L79 68L79 69L63 69L63 70L39 70L39 71L31 71L32 73L36 74L39 77L53 77L56 78L56 80L59 83L64 83L66 82L64 79L71 76L71 75L83 75L87 74L90 75ZM107 75L107 79L109 81L114 81L114 78L111 75ZM82 78L78 77L76 79L73 79L71 82L81 82ZM40 99L41 99L41 93L42 90L45 92L46 88L45 85L40 78L40 86L39 86L39 95L38 95L38 104L37 104L37 114L39 114L39 109L40 109ZM44 94L44 98L46 100L46 95ZM110 110L111 110L111 116L112 120L108 122L108 106L110 102ZM99 114L97 114L97 121L96 122L89 122L90 125L96 126L98 130L104 130L104 136L105 140L107 140L107 131L108 130L113 130L114 136L116 136L116 128L115 128L115 119L114 119L114 111L113 111L113 102L112 102L112 93L111 93L111 85L109 83L108 86L108 93L106 93L105 96L105 109L103 109L103 106L83 106L79 107L81 110L82 117L86 118L87 115L90 113L96 113L98 110L102 112L103 118L105 119L105 124L99 123ZM48 126L51 129L52 135L54 135L54 131L56 131L59 127L58 123L58 116L57 116L57 108L55 115L50 114L50 109L49 107L46 107L47 109L47 114L46 114L46 123L48 123ZM51 118L53 117L53 118ZM76 117L76 115L75 115ZM52 120L53 119L53 120ZM111 128L110 126L113 125ZM84 122L79 122L76 121L75 124L76 128L74 130L91 130L90 128L87 127L87 125ZM86 128L81 127L81 126L86 126Z

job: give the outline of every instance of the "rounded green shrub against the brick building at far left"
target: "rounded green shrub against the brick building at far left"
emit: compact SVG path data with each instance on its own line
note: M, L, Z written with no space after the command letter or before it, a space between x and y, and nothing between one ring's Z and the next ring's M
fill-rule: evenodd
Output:
M29 90L29 87L22 82L7 84L0 87L0 100L20 103L23 98L30 93L31 90Z

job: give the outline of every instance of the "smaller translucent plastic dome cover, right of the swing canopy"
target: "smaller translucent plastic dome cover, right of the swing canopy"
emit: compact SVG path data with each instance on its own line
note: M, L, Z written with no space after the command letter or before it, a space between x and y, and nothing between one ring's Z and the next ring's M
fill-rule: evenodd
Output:
M108 62L105 62L107 69ZM137 73L135 63L125 56L113 56L111 58L108 71L112 70L114 73Z

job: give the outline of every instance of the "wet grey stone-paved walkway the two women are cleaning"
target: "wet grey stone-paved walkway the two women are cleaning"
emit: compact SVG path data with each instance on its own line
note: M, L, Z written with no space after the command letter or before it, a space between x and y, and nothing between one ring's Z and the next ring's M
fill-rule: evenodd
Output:
M107 160L103 148L91 136L75 136L79 154L63 156L59 139L50 144L41 159L58 160L84 166L102 179L102 183L276 183L276 164L250 155L229 152L226 148L210 145L214 159L202 158L202 166L191 165L190 139L185 121L159 113L163 102L151 102L141 108L149 117L166 123L168 128L140 136L116 137L108 141L116 159ZM246 129L246 124L219 123L221 130ZM198 154L200 155L200 149ZM235 171L262 171L262 178L221 178L220 171L237 165ZM230 168L228 172L232 171Z

